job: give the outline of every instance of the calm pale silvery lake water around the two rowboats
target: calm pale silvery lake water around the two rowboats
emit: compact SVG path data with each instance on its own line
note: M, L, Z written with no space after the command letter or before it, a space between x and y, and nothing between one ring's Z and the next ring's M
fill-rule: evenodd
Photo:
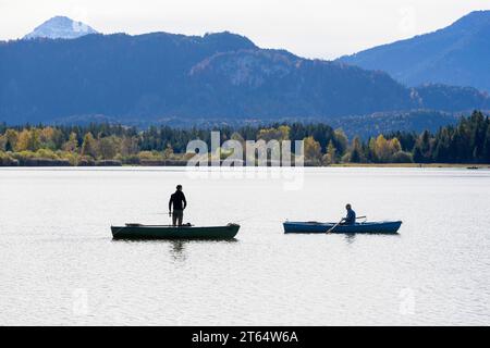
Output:
M0 324L490 324L490 171L201 176L1 169ZM111 224L167 224L179 183L184 220L240 222L236 240L112 240ZM400 235L283 234L346 202Z

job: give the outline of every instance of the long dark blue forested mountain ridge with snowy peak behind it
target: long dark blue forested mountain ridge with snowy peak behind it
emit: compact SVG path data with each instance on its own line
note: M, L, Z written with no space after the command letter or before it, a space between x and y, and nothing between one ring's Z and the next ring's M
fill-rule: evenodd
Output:
M37 38L0 42L0 122L301 121L490 109L490 97L473 87L407 87L347 58L308 60L261 49L228 32L130 36L88 30L73 37L59 18L36 29Z

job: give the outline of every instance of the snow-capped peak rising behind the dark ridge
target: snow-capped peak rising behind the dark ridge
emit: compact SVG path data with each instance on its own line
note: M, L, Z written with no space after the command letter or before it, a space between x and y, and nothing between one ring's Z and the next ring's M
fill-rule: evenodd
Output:
M24 36L24 39L38 37L74 39L87 34L97 34L97 32L85 23L76 22L65 16L56 16L36 27L32 33Z

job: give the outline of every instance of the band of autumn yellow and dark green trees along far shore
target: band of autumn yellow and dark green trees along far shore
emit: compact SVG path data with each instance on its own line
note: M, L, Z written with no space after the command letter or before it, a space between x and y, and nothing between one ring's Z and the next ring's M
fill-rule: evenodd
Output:
M189 158L186 147L200 139L210 145L210 132L228 139L266 141L304 140L305 161L310 165L334 163L490 163L490 121L479 111L456 125L436 133L395 132L352 141L342 129L327 124L271 124L219 128L137 129L123 125L23 125L0 124L0 165L149 164Z

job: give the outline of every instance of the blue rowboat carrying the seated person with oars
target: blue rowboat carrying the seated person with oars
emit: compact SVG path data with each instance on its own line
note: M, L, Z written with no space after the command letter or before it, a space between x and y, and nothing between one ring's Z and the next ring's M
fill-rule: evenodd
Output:
M284 233L326 233L336 225L332 222L289 222L283 223ZM401 221L382 221L382 222L362 222L353 225L338 225L331 233L379 233L379 234L395 234Z

